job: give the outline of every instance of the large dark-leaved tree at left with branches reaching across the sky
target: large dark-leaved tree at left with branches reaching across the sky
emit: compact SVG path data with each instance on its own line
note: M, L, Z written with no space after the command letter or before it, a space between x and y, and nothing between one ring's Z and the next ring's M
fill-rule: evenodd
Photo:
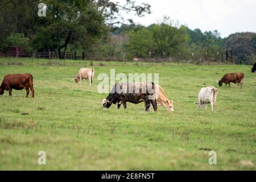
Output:
M69 44L79 42L84 47L108 35L109 27L121 23L119 11L150 13L150 5L126 0L123 5L109 0L45 0L46 17L38 17L40 1L6 0L0 5L0 33L23 33L36 50L59 52L64 55ZM132 22L130 20L130 22Z

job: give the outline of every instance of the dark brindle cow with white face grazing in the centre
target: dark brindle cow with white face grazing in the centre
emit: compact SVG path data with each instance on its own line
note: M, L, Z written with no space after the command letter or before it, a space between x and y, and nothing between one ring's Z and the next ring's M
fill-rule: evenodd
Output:
M118 109L123 104L126 109L126 102L133 104L145 103L145 111L149 111L152 104L154 111L157 111L154 82L118 82L113 87L107 98L102 100L102 108L109 108L112 104L118 104Z

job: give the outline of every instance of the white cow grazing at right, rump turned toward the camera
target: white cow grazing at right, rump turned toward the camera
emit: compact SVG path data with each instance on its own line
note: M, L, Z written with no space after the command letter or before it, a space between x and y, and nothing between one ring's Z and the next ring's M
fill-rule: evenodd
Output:
M212 106L212 110L215 109L216 98L218 94L218 89L214 86L208 86L201 88L198 94L198 102L195 104L198 105L200 109L202 109L203 105L205 109L207 109L207 104Z

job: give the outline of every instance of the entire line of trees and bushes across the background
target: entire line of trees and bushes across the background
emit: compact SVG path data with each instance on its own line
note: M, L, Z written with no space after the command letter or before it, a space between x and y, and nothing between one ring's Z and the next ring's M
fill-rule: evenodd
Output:
M121 11L143 16L150 5L109 0L45 0L46 16L38 16L41 1L6 0L0 4L0 50L23 46L27 52L85 52L97 60L185 60L255 62L256 34L236 33L222 39L217 30L191 30L164 16L150 26L124 24ZM118 26L122 24L121 26Z

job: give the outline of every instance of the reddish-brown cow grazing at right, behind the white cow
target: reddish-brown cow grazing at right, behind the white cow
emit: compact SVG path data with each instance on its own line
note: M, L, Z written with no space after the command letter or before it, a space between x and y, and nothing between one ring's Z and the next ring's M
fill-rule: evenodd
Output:
M223 83L226 85L229 84L230 88L230 82L233 82L234 84L237 83L237 88L239 85L243 85L243 79L245 78L245 74L243 73L226 73L224 77L221 78L220 81L218 81L218 85L222 86Z

